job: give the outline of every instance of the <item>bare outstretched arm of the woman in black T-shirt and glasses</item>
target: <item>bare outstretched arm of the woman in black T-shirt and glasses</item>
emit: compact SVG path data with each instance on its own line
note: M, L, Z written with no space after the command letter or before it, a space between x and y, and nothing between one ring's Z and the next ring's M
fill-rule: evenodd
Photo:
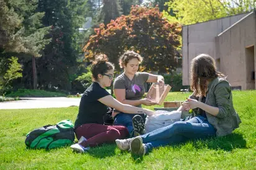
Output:
M111 95L104 96L103 98L100 98L99 101L101 103L105 104L106 106L117 109L124 113L132 113L132 114L145 113L148 116L151 116L153 114L153 111L151 111L149 109L138 108L135 106L130 106L129 104L122 104L120 101L117 101Z

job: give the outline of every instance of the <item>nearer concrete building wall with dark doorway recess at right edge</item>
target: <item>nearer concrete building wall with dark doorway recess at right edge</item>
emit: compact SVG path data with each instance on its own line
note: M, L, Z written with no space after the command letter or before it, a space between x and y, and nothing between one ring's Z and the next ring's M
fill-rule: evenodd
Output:
M232 25L216 36L216 54L220 59L220 71L227 75L232 86L241 86L242 90L254 89L255 80L255 14Z

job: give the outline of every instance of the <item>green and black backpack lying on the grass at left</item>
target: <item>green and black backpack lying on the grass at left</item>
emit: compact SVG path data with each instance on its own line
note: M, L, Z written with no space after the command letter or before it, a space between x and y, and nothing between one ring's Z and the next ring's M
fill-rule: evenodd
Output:
M69 119L56 125L45 125L26 135L25 145L29 148L46 150L71 145L75 140L74 125Z

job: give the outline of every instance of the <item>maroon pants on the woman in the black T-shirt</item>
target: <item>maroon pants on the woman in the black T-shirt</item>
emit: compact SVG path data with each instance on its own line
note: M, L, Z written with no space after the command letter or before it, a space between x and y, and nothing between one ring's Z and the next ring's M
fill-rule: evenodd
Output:
M75 130L78 140L81 136L87 140L80 143L83 147L96 147L102 143L112 143L129 135L128 129L122 125L83 124Z

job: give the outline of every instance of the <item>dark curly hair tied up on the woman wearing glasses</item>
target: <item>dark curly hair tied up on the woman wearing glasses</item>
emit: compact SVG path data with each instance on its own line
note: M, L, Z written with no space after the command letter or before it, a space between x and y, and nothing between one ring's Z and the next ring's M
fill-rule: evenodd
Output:
M105 54L96 56L91 65L93 79L98 80L98 74L106 74L108 70L114 70L114 65L111 62L108 62L107 56Z

